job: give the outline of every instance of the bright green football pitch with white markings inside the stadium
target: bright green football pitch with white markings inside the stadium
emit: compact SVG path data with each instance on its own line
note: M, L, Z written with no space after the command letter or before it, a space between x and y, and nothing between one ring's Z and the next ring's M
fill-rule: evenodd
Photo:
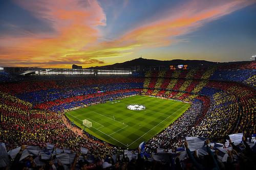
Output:
M129 110L130 104L140 104L145 109ZM173 123L189 106L184 102L135 95L65 114L93 136L118 147L135 149ZM89 120L92 127L85 127L83 119Z

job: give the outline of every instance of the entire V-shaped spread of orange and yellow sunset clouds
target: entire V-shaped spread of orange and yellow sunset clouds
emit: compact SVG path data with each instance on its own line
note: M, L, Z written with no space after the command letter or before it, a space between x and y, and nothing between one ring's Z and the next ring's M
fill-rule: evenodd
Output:
M155 20L127 31L112 41L99 41L98 27L106 25L106 14L96 1L17 1L17 5L49 23L54 33L15 37L1 36L0 59L4 65L64 67L103 64L102 59L124 57L145 48L177 43L179 36L232 13L254 1L189 1L166 10ZM11 61L10 61L11 60ZM113 63L115 61L113 60ZM16 64L15 64L16 63ZM109 63L108 63L109 64Z

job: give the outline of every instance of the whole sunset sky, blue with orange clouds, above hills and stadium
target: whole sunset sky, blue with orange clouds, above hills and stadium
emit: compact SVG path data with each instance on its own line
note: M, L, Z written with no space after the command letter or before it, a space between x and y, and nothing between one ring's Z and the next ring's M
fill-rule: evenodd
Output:
M256 0L0 1L0 66L256 55Z

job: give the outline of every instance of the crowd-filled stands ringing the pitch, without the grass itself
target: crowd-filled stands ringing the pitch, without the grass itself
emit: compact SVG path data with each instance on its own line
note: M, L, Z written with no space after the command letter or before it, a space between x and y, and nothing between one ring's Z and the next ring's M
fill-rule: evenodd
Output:
M256 135L255 62L207 69L147 71L138 75L16 82L6 79L9 75L1 76L1 82L5 83L0 84L3 151L0 168L253 168L255 146L249 141ZM133 156L130 159L129 154L121 157L123 149L86 132L78 132L80 129L63 115L65 110L135 94L191 104L174 123L145 142L145 159L137 151L125 151ZM226 141L227 136L234 133L243 133L239 144L234 143L231 136ZM204 138L204 147L200 148L204 152L199 149L195 152L188 136ZM17 152L12 155L15 148ZM87 152L82 152L81 157L78 151L84 149ZM62 157L68 158L68 162L60 159Z

